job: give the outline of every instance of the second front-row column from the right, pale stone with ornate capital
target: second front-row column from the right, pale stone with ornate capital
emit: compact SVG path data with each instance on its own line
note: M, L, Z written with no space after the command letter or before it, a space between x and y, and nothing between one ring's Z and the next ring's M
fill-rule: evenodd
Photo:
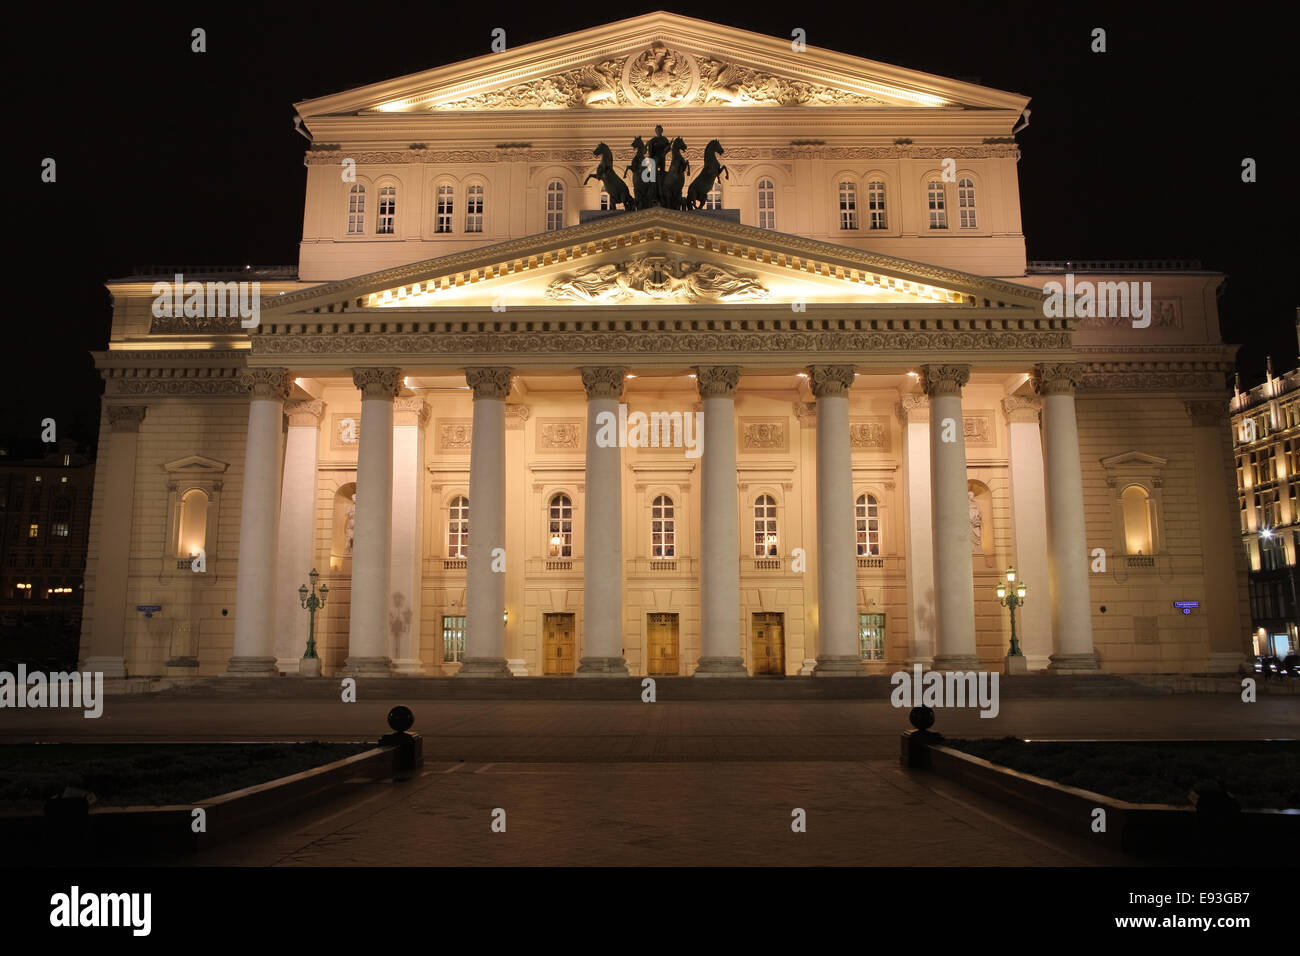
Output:
M922 365L930 395L930 485L935 548L935 669L979 667L975 654L975 575L962 385L970 365Z

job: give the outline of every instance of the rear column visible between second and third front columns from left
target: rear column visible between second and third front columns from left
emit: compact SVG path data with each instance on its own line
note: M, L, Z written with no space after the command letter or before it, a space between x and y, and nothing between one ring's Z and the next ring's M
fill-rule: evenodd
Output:
M420 662L420 598L422 567L420 529L424 518L424 427L429 406L422 398L393 403L393 550L389 564L389 639L393 670L422 674ZM363 429L364 431L364 429Z

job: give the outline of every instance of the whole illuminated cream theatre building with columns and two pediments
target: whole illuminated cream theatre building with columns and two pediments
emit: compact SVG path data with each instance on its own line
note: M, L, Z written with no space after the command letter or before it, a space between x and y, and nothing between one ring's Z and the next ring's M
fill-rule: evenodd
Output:
M299 103L296 271L109 285L84 666L296 674L315 568L325 675L1000 669L1015 566L1031 670L1236 670L1222 276L1027 263L1026 104L666 13Z

